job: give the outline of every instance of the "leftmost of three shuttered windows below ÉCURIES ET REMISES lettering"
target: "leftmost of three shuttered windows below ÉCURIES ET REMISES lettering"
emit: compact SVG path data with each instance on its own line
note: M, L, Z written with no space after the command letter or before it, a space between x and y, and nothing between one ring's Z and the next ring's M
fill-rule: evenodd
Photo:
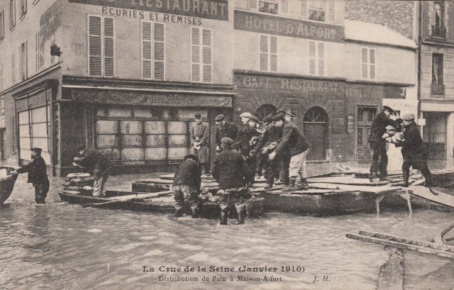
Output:
M91 77L114 77L114 18L88 16L88 62Z

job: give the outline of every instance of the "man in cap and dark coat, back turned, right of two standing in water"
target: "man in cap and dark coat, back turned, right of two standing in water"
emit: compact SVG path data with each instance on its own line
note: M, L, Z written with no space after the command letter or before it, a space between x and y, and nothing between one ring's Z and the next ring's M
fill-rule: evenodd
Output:
M244 223L246 201L252 198L246 182L254 176L254 172L248 167L243 156L231 149L233 143L231 138L222 139L223 152L216 156L211 169L211 174L219 183L221 225L227 224L232 203L238 213L238 224Z

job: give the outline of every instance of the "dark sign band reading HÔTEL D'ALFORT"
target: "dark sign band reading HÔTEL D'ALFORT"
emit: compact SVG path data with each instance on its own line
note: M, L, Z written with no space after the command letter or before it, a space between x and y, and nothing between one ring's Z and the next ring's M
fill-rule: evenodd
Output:
M284 35L293 38L309 38L335 43L341 43L344 38L343 26L333 26L325 23L302 21L245 11L235 11L234 21L234 27L237 30Z

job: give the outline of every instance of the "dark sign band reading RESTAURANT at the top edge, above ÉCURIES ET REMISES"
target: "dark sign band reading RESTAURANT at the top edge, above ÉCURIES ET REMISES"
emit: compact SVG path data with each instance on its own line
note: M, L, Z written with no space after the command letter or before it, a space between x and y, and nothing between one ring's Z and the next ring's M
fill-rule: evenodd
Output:
M228 21L228 0L69 0L70 3Z

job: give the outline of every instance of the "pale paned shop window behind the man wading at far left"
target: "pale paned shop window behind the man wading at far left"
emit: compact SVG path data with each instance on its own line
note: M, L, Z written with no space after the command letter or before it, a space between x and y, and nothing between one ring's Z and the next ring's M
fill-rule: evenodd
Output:
M21 160L31 160L31 148L43 149L41 156L46 164L50 164L49 132L50 106L32 108L18 114L19 156Z

